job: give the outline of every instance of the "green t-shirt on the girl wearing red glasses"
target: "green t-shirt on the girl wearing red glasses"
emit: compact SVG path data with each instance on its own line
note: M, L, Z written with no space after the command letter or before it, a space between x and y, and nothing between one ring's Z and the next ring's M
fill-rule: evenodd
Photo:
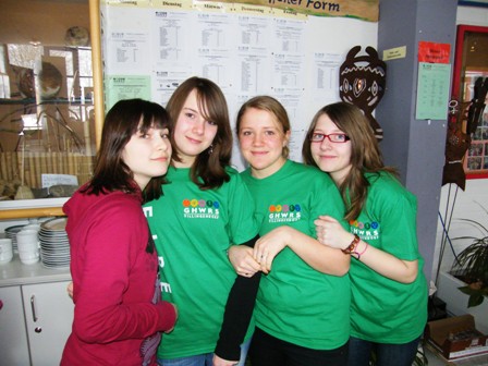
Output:
M427 321L428 289L418 253L416 198L388 173L366 178L370 183L366 207L351 222L351 232L400 259L418 259L418 276L413 283L400 283L351 260L351 335L406 343L422 334Z

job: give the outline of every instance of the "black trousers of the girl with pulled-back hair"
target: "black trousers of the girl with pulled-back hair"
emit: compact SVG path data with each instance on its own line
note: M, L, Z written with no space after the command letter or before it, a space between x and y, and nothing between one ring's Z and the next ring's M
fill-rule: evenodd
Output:
M347 362L347 342L334 350L313 350L256 328L249 358L252 366L344 366Z

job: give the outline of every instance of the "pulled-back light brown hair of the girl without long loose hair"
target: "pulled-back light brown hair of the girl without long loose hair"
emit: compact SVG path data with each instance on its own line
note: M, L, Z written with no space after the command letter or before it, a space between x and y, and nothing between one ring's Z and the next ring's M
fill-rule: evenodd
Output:
M286 132L291 130L290 119L288 118L288 113L284 107L277 99L272 97L257 96L247 100L244 105L242 105L241 109L239 110L237 122L235 123L235 131L237 135L241 130L241 120L246 110L249 108L264 110L274 115L278 123L281 125L284 135L286 134ZM281 151L281 156L288 159L289 155L290 155L290 148L288 147L288 145L285 145L283 147L283 150Z

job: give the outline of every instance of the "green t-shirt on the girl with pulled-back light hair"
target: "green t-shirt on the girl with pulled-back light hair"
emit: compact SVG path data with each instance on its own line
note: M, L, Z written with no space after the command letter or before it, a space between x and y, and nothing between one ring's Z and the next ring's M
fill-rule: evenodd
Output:
M316 168L288 160L274 174L241 173L256 203L259 234L290 225L315 237L314 220L329 215L343 222L344 206L334 183ZM346 223L343 222L346 227ZM285 247L263 276L255 307L256 326L301 346L332 350L350 335L349 277L321 273Z

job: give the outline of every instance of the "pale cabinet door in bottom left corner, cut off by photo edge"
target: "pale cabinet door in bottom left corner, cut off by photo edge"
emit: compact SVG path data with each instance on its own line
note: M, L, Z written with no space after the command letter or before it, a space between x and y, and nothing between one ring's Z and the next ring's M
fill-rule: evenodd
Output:
M0 288L0 364L28 365L21 286Z

